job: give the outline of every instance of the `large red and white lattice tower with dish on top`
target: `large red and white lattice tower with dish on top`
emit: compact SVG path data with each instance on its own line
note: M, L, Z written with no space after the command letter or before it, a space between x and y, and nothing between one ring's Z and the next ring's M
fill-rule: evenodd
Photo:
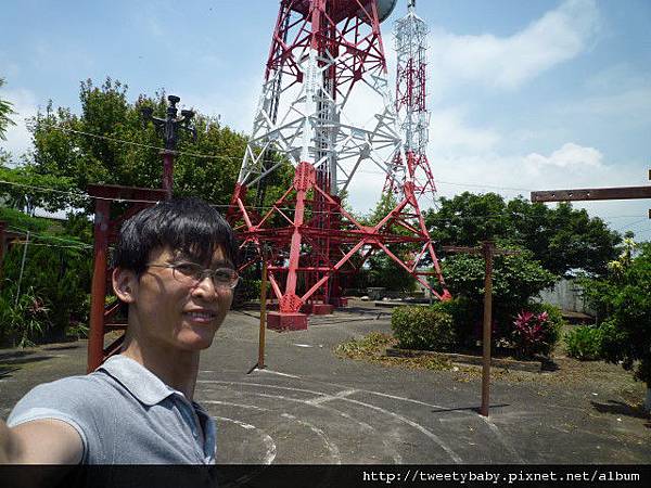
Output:
M385 252L436 296L449 296L409 178L400 184L399 204L375 226L359 223L341 204L361 167L388 176L403 152L380 34L396 1L280 1L253 133L228 214L242 246L264 249L278 300L278 311L268 314L271 329L305 329L304 312L343 305L342 280L375 252ZM361 86L376 100L363 107L374 113L371 127L346 120L346 106ZM250 201L283 158L295 168L293 183L270 209L257 211ZM392 252L405 243L421 249L417 258L405 260ZM427 253L443 294L427 282L433 273L418 267ZM243 267L256 261L257 256Z

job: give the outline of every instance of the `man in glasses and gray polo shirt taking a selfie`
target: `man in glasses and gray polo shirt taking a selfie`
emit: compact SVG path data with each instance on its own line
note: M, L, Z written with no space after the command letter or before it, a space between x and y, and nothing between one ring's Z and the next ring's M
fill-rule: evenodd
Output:
M113 288L128 305L120 354L39 385L0 421L0 462L210 464L215 423L193 401L200 351L228 312L235 244L207 204L171 200L120 230Z

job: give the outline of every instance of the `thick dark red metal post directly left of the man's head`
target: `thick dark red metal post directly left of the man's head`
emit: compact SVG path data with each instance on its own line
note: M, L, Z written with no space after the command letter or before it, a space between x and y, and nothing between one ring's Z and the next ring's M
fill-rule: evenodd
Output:
M110 201L97 201L87 373L94 371L102 363L104 356L104 299L106 296L110 209Z

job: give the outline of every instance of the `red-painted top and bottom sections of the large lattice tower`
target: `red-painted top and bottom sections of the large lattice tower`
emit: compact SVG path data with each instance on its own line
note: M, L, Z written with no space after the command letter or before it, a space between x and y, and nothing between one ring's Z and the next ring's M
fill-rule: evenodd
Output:
M301 84L303 74L298 55L316 49L336 57L326 73L333 98L347 97L355 84L372 69L386 73L374 0L281 0L280 11L267 61L266 80L278 74L290 77L290 86ZM418 162L412 160L412 165ZM295 169L291 188L265 215L248 209L246 187L235 185L228 218L242 240L242 247L253 244L268 249L269 282L278 300L278 311L268 316L272 329L305 329L302 311L322 312L326 307L341 306L341 278L355 272L375 252L385 252L441 299L449 293L441 275L431 237L414 195L413 183L404 184L404 200L376 226L359 223L331 194L328 168L302 162ZM289 210L288 210L289 208ZM410 222L417 221L417 224ZM276 221L276 224L272 223ZM278 221L284 224L278 226ZM396 229L403 229L396 233ZM403 235L407 231L408 235ZM405 260L391 251L394 244L420 248L418 256ZM417 269L429 253L435 272ZM260 253L261 254L261 253ZM353 256L360 260L353 262ZM242 268L251 266L244 262ZM444 292L437 293L426 275L436 274Z

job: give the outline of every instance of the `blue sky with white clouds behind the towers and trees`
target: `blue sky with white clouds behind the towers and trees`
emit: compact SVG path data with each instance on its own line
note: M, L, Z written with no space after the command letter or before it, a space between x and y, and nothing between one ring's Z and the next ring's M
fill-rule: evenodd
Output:
M390 67L406 3L382 24ZM651 2L418 0L417 10L431 29L429 157L441 195L649 184ZM8 0L0 95L21 124L0 146L27 150L24 117L49 99L78 111L79 81L106 76L133 100L165 88L248 132L277 13L276 0ZM374 203L350 200L359 210ZM651 239L651 201L584 206Z

